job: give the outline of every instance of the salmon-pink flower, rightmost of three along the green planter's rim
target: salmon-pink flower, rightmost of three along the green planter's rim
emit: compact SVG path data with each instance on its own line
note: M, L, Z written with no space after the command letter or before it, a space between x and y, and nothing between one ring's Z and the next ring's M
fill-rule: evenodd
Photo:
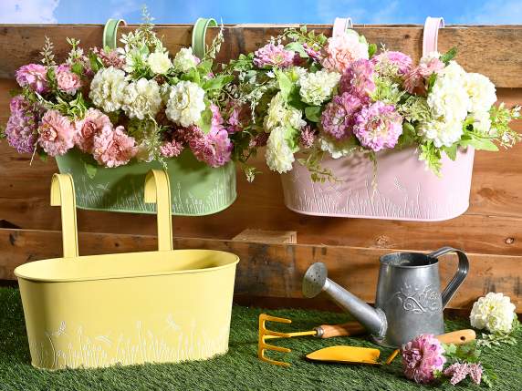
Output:
M136 141L125 133L122 126L116 129L104 127L94 137L92 155L99 164L106 167L118 167L127 164L137 152Z

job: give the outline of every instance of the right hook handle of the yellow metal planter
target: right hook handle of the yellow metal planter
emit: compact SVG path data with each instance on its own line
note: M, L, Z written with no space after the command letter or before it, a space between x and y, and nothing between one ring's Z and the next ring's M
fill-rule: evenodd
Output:
M165 170L150 170L145 177L145 202L156 204L158 250L172 251L171 185Z

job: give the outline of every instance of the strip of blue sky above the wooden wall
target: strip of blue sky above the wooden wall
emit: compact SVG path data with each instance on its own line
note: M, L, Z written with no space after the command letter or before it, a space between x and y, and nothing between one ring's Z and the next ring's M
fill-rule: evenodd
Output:
M213 16L224 23L422 24L427 15L446 24L522 25L522 0L0 0L0 23L94 23L121 17L140 21L146 3L156 23L193 23Z

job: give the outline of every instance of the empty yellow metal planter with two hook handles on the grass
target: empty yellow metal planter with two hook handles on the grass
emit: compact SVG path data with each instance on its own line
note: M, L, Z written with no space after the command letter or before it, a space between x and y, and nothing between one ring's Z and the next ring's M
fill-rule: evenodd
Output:
M151 170L157 252L78 256L74 184L55 174L64 257L16 268L32 364L61 369L176 363L228 349L235 265L230 252L172 250L169 179Z

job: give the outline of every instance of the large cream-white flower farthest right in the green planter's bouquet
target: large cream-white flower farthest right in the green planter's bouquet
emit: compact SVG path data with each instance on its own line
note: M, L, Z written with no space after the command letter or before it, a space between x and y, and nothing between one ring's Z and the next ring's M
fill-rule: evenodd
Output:
M204 90L192 81L180 81L171 87L165 113L183 127L196 123L204 111Z

